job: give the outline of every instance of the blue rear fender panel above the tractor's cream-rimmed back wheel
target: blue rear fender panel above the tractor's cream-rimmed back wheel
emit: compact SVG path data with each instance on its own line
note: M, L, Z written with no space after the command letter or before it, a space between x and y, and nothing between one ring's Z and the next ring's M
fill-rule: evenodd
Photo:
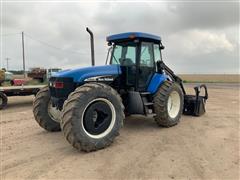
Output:
M154 94L157 92L159 86L167 79L165 74L155 73L148 85L147 91Z

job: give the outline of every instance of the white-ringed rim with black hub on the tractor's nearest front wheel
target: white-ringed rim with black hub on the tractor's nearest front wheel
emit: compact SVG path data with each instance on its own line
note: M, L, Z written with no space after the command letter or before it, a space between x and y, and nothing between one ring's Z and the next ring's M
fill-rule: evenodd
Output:
M97 98L85 107L81 125L88 136L99 139L111 132L115 121L116 111L113 104L107 99Z

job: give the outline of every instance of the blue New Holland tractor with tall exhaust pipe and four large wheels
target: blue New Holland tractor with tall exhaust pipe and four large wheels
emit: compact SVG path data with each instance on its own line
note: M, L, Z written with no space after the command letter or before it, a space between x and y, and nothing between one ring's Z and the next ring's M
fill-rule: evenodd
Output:
M205 99L186 95L182 80L162 61L159 36L129 32L107 37L105 66L56 73L34 100L34 117L47 131L62 130L76 149L94 151L109 146L125 116L152 116L159 126L178 124L182 113L205 112ZM200 99L200 100L199 100Z

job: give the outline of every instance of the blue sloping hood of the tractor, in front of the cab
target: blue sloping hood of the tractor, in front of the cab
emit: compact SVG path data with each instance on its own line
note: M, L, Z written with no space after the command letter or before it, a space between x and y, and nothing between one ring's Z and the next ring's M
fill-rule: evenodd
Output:
M54 77L71 77L74 82L82 82L87 78L95 76L119 75L121 69L119 65L91 66L72 70L64 70L54 74Z

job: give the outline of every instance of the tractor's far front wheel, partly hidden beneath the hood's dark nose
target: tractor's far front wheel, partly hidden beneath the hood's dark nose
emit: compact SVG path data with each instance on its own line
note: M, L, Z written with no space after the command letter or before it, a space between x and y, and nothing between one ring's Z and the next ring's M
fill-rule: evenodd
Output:
M37 123L47 131L60 131L60 111L52 106L48 87L38 91L33 102L33 114Z

